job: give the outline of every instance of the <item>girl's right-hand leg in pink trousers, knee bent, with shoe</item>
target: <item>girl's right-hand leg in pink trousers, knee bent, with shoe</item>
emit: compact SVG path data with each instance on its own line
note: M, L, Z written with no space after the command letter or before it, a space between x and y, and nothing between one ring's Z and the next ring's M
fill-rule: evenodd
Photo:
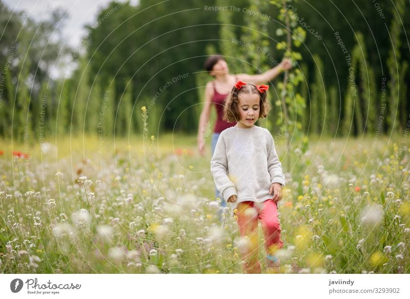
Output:
M272 200L264 201L260 205L259 220L262 224L263 234L265 236L267 257L269 261L275 262L276 251L283 247L283 242L280 240L278 205Z

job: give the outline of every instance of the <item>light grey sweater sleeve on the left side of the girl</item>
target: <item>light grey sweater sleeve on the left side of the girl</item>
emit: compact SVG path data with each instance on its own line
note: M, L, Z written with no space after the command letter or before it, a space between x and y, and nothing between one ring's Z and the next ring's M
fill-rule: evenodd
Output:
M232 183L228 176L226 142L223 134L219 135L218 142L216 143L214 155L211 159L211 172L216 189L221 192L224 200L228 200L232 195L238 195L235 184Z

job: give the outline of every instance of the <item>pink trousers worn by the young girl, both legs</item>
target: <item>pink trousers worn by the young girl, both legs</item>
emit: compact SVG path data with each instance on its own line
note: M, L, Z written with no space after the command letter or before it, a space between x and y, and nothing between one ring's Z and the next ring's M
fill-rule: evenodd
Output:
M265 237L265 250L268 255L275 255L275 251L282 248L280 240L280 224L278 219L278 206L272 200L263 203L241 202L238 204L237 223L239 232L244 240L241 248L244 260L244 271L247 273L260 273L258 261L259 240L258 220L261 222Z

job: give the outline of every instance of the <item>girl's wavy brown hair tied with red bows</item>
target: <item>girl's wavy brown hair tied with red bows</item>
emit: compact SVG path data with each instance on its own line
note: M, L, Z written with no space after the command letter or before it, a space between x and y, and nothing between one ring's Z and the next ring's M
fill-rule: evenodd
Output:
M239 107L239 94L247 93L247 94L259 94L259 108L260 113L259 117L265 118L268 116L269 111L272 109L271 103L269 103L267 99L267 91L260 92L256 85L253 83L247 83L246 85L242 86L241 88L237 88L234 86L232 88L231 93L224 99L223 105L223 121L229 123L238 122L240 119L240 113L238 110Z

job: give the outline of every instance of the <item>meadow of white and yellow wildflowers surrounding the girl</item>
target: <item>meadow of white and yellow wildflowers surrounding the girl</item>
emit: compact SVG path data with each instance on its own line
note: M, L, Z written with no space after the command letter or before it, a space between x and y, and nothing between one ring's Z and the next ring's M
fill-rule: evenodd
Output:
M143 110L144 111L144 110ZM241 238L221 209L195 137L1 142L0 272L242 273ZM400 138L396 138L401 140ZM280 273L410 273L410 150L392 138L318 139L292 156L279 218ZM256 240L256 241L255 241Z

